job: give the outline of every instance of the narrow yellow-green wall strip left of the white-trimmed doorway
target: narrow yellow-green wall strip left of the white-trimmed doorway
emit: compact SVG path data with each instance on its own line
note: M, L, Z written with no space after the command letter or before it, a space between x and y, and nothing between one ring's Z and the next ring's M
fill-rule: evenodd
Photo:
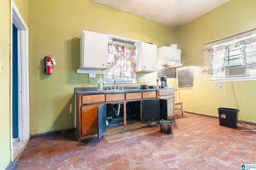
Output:
M11 161L10 131L10 0L0 5L0 167ZM4 15L3 15L4 14Z

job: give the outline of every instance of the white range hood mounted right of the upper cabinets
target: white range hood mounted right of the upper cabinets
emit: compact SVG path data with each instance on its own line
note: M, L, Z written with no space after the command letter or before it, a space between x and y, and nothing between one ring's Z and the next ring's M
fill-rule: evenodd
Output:
M160 47L157 49L157 65L178 67L181 63L181 50L172 47Z

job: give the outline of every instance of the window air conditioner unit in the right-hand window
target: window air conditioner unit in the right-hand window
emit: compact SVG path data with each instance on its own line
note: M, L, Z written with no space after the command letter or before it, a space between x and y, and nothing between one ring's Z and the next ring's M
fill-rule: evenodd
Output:
M246 68L242 65L226 66L225 77L247 76Z

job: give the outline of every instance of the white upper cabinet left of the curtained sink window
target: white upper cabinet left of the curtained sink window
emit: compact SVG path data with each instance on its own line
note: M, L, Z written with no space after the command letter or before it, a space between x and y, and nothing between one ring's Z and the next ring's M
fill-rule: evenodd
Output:
M80 69L104 70L108 65L108 35L83 30L80 38Z

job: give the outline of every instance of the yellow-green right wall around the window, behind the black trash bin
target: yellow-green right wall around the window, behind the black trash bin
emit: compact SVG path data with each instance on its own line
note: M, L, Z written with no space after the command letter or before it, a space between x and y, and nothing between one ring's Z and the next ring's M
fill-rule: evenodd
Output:
M222 6L178 28L178 47L182 50L183 67L192 68L194 87L180 90L185 110L218 115L217 108L240 109L239 119L256 122L254 99L256 81L212 82L210 74L200 71L204 65L204 43L256 27L256 1L230 0ZM223 88L217 89L222 83ZM226 84L226 101L225 101Z

